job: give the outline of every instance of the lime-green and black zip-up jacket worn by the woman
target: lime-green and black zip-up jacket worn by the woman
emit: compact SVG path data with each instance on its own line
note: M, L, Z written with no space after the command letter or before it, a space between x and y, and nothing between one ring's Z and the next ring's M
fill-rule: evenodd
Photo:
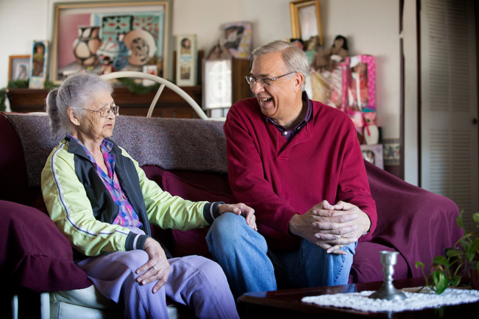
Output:
M113 142L115 172L146 235L114 225L119 208L96 173L85 150L66 137L42 171L42 193L51 219L73 248L86 256L143 249L150 223L163 229L205 227L218 216L218 203L191 202L171 196L146 178L138 163Z

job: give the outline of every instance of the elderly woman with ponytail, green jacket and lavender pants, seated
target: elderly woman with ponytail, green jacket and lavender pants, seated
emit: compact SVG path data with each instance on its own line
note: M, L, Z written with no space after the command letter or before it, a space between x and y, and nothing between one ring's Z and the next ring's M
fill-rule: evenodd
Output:
M167 298L198 318L237 318L223 270L199 256L167 259L150 236L164 229L205 227L225 212L245 217L244 204L191 202L162 191L138 163L108 139L118 106L112 85L74 74L47 96L53 136L65 136L42 171L42 191L58 229L81 253L76 264L126 318L167 318Z

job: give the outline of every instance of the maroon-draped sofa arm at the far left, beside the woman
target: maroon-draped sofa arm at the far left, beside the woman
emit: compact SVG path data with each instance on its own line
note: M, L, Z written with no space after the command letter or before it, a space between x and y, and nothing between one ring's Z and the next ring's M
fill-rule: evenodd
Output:
M14 290L60 291L91 286L73 262L72 246L39 210L0 200L0 274Z

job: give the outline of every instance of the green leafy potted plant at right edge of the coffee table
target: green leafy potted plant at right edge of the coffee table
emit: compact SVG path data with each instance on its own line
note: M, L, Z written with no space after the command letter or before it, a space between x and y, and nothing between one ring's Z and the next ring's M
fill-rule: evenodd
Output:
M462 213L457 217L457 226L464 230ZM472 287L479 289L479 213L473 214L477 230L466 232L456 243L455 247L447 248L445 256L440 255L432 259L430 273L424 273L424 264L417 261L416 268L421 267L426 285L437 294L443 293L449 286L460 284L463 277L471 279ZM422 289L422 288L421 288Z

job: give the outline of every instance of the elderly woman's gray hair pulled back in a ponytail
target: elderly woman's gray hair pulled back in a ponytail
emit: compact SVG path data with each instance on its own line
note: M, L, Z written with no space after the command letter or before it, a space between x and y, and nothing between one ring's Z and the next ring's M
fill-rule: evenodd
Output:
M68 107L74 107L75 112L84 114L85 110L77 107L87 107L93 103L96 94L105 91L112 94L112 84L92 72L72 74L60 87L52 89L47 96L51 137L63 137L72 132L73 124L67 114Z

